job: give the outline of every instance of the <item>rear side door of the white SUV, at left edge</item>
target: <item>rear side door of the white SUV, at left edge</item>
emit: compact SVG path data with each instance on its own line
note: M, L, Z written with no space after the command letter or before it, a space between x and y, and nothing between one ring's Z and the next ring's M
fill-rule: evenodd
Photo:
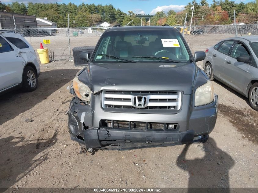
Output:
M0 36L0 91L21 83L22 59L11 45Z

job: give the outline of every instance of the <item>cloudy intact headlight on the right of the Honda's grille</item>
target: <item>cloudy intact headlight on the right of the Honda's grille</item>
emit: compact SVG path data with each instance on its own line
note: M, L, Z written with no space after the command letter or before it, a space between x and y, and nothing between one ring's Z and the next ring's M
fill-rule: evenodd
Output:
M194 106L205 105L213 102L214 88L210 80L195 91Z

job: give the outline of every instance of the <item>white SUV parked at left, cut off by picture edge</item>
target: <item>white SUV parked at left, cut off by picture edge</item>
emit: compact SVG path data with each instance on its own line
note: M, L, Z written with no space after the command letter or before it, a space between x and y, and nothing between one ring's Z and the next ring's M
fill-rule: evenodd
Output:
M37 55L24 37L0 30L0 93L16 86L34 91L39 73Z

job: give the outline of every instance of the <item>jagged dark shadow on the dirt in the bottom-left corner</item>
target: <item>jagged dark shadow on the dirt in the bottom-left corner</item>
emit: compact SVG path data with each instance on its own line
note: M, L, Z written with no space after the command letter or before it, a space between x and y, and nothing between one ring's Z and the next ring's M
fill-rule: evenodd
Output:
M13 186L48 159L49 152L42 152L56 143L56 135L57 130L53 130L53 136L48 139L0 138L0 192Z

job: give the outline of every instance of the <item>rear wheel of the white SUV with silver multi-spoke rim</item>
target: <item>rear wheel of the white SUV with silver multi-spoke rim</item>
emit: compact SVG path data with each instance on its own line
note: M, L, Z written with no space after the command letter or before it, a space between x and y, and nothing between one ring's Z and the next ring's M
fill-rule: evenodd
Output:
M31 66L26 66L23 72L22 88L24 91L35 91L38 87L38 76Z

